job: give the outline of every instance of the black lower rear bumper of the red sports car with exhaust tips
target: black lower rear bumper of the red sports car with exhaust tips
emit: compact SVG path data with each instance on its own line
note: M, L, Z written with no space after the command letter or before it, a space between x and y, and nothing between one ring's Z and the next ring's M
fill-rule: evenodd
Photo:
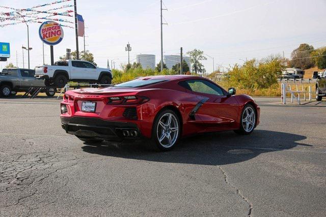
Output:
M141 138L139 128L132 122L107 121L92 117L60 117L66 133L79 136L110 139Z

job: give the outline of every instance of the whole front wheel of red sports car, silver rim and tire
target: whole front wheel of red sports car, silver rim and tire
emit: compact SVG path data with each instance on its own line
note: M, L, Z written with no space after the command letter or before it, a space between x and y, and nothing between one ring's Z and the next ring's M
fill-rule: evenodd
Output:
M234 132L241 135L251 134L256 127L256 110L252 105L244 106L241 113L240 129Z

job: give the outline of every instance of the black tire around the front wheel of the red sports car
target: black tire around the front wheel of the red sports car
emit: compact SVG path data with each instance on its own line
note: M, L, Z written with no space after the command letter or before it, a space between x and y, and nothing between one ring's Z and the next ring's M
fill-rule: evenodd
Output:
M253 112L251 113L252 115L254 115L254 119L251 119L252 121L250 121L250 123L246 122L244 123L243 120L246 119L245 117L247 117L247 112L246 111L250 111ZM254 129L256 128L256 123L257 123L257 111L254 108L254 106L247 104L246 106L244 106L242 112L241 112L241 116L240 116L240 129L239 130L235 130L234 132L240 135L248 135L251 134ZM246 127L245 127L246 126ZM248 128L247 128L248 126Z

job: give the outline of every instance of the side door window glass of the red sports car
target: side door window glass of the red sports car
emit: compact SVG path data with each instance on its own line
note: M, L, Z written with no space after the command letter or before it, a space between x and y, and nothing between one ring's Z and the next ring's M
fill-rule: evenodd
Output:
M206 80L187 80L185 81L192 91L203 94L224 95L223 90L215 84Z

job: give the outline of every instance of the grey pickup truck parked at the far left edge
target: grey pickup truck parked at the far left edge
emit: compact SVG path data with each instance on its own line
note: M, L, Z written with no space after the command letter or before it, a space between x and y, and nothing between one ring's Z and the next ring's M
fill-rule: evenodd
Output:
M16 95L18 91L27 91L30 87L45 87L44 80L34 78L31 69L3 69L0 74L0 97ZM54 96L55 88L46 88L47 96Z

